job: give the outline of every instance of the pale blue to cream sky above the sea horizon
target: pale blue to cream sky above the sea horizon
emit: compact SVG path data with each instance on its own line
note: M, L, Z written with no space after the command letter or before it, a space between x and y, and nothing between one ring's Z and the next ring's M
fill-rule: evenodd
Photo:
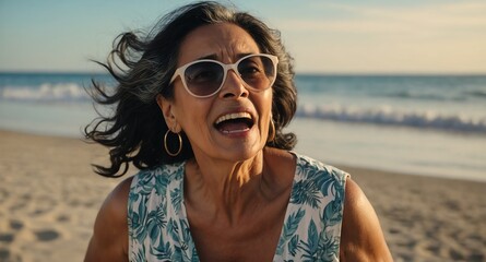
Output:
M0 0L0 72L93 72L117 35L191 1ZM486 1L234 0L299 73L486 73Z

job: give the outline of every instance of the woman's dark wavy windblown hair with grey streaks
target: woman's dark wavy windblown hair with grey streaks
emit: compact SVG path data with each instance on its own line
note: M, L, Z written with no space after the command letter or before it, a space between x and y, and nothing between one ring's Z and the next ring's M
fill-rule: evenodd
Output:
M94 80L88 90L95 103L115 108L111 116L98 114L99 117L84 128L87 141L110 148L110 166L93 165L97 174L120 177L127 172L130 162L137 168L145 169L193 157L183 132L181 153L173 157L165 152L163 136L168 128L156 103L156 95L174 99L174 88L169 81L176 71L180 44L193 29L216 23L232 23L244 28L261 52L278 57L272 102L275 139L269 141L266 146L283 150L295 146L296 135L282 131L294 117L297 93L293 59L282 44L280 32L269 28L248 13L217 2L198 2L165 15L146 34L128 32L119 35L107 62L95 61L116 81L115 91ZM178 146L178 141L168 143L175 143L174 148Z

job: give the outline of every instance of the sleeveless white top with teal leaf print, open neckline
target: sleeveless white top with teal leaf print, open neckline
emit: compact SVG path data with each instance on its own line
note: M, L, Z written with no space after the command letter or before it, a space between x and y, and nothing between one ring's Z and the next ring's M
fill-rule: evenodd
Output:
M294 184L273 261L339 261L348 175L295 155ZM199 261L183 204L185 164L134 176L128 201L130 261Z

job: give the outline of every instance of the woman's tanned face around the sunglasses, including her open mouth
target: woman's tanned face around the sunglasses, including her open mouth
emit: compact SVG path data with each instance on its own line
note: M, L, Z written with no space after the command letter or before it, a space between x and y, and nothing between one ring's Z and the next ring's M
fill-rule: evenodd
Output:
M242 28L227 23L205 25L182 41L178 67L203 58L234 63L250 53L260 50ZM180 78L174 82L174 93L175 99L165 100L166 109L163 108L167 126L187 134L198 158L239 162L254 156L265 145L272 88L251 91L229 70L214 96L193 97Z

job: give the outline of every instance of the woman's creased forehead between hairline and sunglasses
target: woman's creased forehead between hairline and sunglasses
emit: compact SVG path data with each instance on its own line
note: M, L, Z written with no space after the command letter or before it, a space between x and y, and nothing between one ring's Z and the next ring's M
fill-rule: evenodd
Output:
M258 52L260 51L257 43L241 27L229 23L203 25L189 33L182 40L178 64L206 57L234 62L244 53Z

